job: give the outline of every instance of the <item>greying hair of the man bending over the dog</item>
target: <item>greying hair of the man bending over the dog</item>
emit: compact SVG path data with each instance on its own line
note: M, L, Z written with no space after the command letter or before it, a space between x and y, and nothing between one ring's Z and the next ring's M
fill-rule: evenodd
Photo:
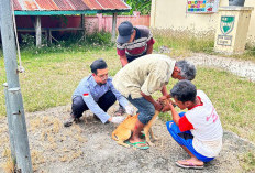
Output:
M180 69L180 76L185 79L192 80L196 76L196 67L185 60L176 62L176 66Z

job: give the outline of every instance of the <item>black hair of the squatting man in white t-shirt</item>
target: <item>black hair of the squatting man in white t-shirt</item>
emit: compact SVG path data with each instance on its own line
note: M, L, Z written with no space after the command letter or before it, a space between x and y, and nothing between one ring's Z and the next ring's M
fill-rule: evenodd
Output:
M197 96L197 88L196 86L187 80L179 80L170 90L170 95L173 98L181 102L192 101L195 102Z

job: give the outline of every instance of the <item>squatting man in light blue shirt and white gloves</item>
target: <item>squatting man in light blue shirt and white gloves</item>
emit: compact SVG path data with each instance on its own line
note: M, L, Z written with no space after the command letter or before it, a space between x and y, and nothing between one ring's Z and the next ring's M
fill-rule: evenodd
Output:
M73 95L71 113L69 119L64 122L69 127L77 121L82 112L91 110L102 123L120 123L124 117L111 117L107 110L118 100L127 113L133 113L133 107L129 101L113 87L112 79L108 77L107 63L102 60L96 60L91 65L91 75L85 77L76 88Z

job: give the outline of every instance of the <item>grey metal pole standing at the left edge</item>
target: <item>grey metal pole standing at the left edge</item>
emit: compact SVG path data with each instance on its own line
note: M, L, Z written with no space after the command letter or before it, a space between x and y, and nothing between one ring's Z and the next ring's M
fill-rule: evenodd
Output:
M23 100L20 89L12 10L10 0L0 0L1 37L7 73L5 101L12 156L16 159L18 172L32 173L29 138ZM14 148L14 149L12 149Z

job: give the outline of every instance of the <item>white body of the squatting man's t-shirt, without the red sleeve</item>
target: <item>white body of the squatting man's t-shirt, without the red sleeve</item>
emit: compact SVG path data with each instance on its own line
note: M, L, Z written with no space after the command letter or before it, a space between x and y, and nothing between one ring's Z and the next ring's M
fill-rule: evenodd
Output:
M220 117L202 90L197 91L197 97L202 104L191 108L185 115L192 127L190 129L193 134L192 144L198 153L208 158L214 158L222 148L223 129Z

